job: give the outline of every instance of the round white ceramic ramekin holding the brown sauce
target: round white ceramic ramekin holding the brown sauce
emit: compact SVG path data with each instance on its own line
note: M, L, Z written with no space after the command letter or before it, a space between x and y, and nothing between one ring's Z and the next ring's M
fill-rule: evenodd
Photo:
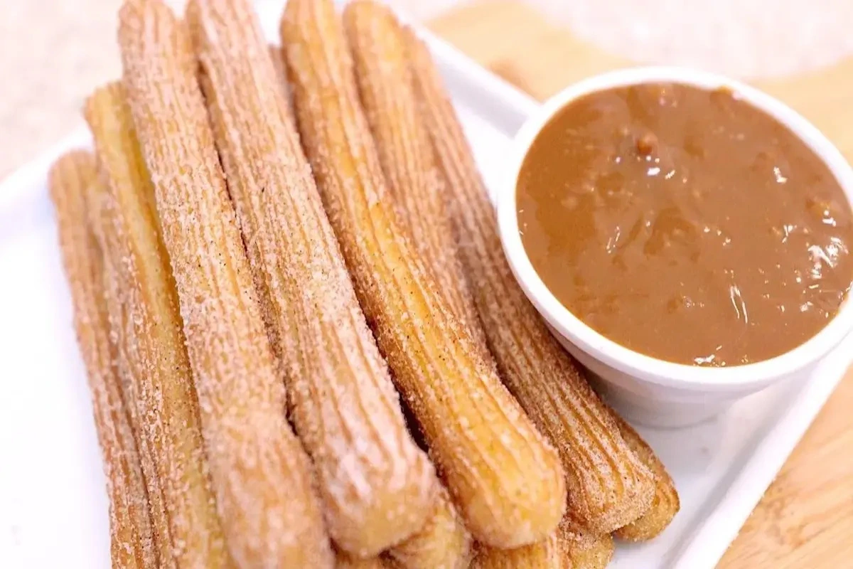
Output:
M613 87L655 82L733 90L806 142L833 172L850 203L853 203L853 170L821 131L782 102L734 79L681 67L635 67L585 79L552 97L521 127L504 177L506 187L499 192L497 203L501 240L515 277L560 342L592 373L596 387L611 404L634 421L679 427L704 421L735 400L777 381L807 376L815 363L853 329L853 302L848 296L826 328L792 351L763 362L728 368L670 363L632 351L598 334L560 304L533 269L519 235L515 192L527 150L554 113L577 97Z

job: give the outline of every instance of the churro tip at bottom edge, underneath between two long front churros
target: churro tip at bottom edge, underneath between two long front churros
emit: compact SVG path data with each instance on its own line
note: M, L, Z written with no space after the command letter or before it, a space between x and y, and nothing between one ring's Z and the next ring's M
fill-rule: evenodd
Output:
M473 557L471 546L471 536L442 486L427 524L389 549L387 556L403 569L466 569Z

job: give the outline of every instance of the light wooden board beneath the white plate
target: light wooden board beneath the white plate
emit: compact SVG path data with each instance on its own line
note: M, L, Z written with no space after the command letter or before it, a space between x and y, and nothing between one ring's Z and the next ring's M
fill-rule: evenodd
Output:
M429 26L540 99L577 79L631 63L573 38L518 0L470 4ZM803 113L853 160L853 58L757 86ZM853 369L746 521L720 567L853 566L851 408Z

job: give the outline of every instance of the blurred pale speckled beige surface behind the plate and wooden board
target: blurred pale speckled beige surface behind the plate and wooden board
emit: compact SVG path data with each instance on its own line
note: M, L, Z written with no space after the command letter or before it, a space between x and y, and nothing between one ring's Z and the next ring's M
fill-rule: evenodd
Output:
M256 0L281 5L284 0ZM416 19L502 0L389 0ZM173 5L183 0L166 0ZM0 0L0 178L81 124L96 84L115 78L121 0ZM585 41L639 61L767 77L853 54L851 0L525 0ZM559 74L557 75L559 77Z

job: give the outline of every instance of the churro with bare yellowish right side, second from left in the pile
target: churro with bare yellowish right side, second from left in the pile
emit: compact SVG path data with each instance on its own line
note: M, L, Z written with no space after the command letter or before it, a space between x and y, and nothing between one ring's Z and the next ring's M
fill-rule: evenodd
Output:
M177 566L227 567L231 561L206 472L198 399L154 188L121 85L96 90L84 114L109 194L101 218L108 274L124 297L115 316L119 345L128 349L119 357L152 453L150 476L160 482L172 554Z

